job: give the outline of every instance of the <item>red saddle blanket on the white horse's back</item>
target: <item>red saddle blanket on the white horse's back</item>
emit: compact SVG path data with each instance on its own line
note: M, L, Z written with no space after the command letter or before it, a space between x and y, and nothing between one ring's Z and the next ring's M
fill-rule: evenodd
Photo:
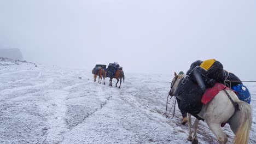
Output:
M202 96L201 103L206 105L208 104L220 91L223 89L230 89L221 83L215 83L212 88L207 88L205 93Z

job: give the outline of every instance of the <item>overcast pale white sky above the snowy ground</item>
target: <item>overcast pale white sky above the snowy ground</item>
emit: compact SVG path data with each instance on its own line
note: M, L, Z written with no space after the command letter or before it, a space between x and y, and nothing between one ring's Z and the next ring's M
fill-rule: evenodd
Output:
M92 69L173 74L215 58L256 80L256 1L0 1L0 47L24 59Z

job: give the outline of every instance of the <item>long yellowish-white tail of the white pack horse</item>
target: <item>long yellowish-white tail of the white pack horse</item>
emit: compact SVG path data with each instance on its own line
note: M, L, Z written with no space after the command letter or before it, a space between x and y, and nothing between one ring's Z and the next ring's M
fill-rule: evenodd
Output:
M249 131L252 126L252 108L244 101L237 101L241 113L241 124L236 132L233 143L248 143Z

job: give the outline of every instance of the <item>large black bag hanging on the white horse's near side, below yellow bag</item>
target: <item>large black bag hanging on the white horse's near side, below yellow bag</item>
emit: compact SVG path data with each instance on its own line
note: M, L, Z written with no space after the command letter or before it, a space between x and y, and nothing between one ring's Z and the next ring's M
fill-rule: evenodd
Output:
M201 76L200 80L197 80L197 75ZM199 66L195 67L187 77L185 76L179 81L175 92L175 96L179 99L177 100L179 109L197 118L199 118L197 114L202 109L201 99L205 93L205 88L212 87L216 82L206 77L206 75L207 71L205 69ZM205 86L200 86L199 83Z

